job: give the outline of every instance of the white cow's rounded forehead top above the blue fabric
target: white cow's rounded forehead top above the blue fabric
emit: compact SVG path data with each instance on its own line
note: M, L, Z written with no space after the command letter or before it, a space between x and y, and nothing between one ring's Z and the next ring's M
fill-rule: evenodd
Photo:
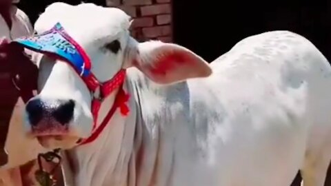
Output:
M130 17L119 8L104 8L92 3L71 6L66 3L53 3L40 15L35 23L39 33L61 23L72 37L103 39L116 36L128 30Z

